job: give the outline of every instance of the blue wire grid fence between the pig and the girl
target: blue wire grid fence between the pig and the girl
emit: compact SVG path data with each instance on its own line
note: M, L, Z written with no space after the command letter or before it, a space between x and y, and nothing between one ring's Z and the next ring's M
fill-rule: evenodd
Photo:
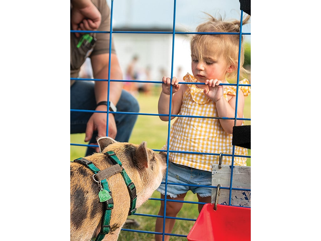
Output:
M238 33L231 33L231 32L176 32L175 31L175 22L176 22L176 0L174 1L174 15L173 15L173 31L113 31L113 4L114 1L111 0L111 6L110 6L110 10L111 10L111 20L110 20L110 31L74 31L71 30L70 32L81 32L81 33L93 33L93 32L97 32L97 33L106 33L109 34L109 39L112 40L112 34L113 33L123 33L123 34L171 34L172 35L172 58L171 58L171 78L173 77L173 61L174 61L174 42L175 42L175 34L238 34L240 35L240 40L239 40L239 61L240 62L240 46L241 46L241 37L242 35L250 35L251 33L242 32L242 20L243 20L243 11L240 10L241 12L241 25L240 25L240 31ZM110 79L110 56L111 56L111 43L112 41L109 42L109 66L108 66L108 79L95 79L95 78L70 78L71 80L76 80L76 81L86 81L86 80L91 80L91 81L108 81L108 89L109 89L109 85L110 85L110 81L114 81L114 82L139 82L139 83L153 83L153 84L162 84L162 81L142 81L142 80L117 80L117 79ZM236 84L221 84L221 85L233 85L233 86L237 86L236 88L236 102L238 101L238 90L239 90L239 86L251 86L251 85L242 85L239 84L239 69L240 66L238 64L238 75L237 75L237 83ZM180 84L191 84L190 82L179 82ZM204 84L204 83L197 83L197 84ZM172 93L172 86L171 86L171 93ZM236 123L237 120L245 120L245 121L251 121L250 118L237 118L237 103L236 103L236 109L235 109L235 117L234 118L227 118L227 117L208 117L208 116L186 116L186 115L172 115L171 114L171 95L170 95L170 101L169 101L169 114L168 115L164 115L164 114L152 114L152 113L137 113L137 112L111 112L108 110L107 108L107 126L108 126L108 114L110 113L115 113L115 114L125 114L125 115L151 115L151 116L169 116L169 121L168 121L168 134L167 134L167 150L160 150L160 149L153 149L154 151L166 151L167 152L167 164L169 162L168 160L168 154L170 152L176 152L176 153L190 153L190 154L199 154L199 155L216 155L219 156L219 153L200 153L200 152L188 152L188 151L171 151L169 150L169 135L170 135L170 119L171 117L197 117L197 118L214 118L214 119L234 119L234 122ZM109 92L108 92L108 100L107 102L109 102ZM101 111L93 111L93 110L79 110L79 109L70 109L71 112L101 112ZM105 113L105 112L103 112ZM108 128L106 130L106 136L108 136ZM77 143L70 143L71 146L83 146L83 147L98 147L98 145L87 145L87 144L77 144ZM231 199L231 191L232 190L240 190L240 191L251 191L250 189L242 189L242 188L232 188L232 179L233 179L233 163L234 163L234 157L247 157L250 158L251 156L240 156L240 155L234 155L234 147L233 147L233 153L232 154L222 154L223 156L231 156L232 157L232 171L231 171L231 183L230 183L230 187L226 188L226 187L220 187L221 189L229 189L230 190L230 199ZM181 184L181 183L169 183L167 181L167 176L168 176L168 170L166 170L166 181L165 183L165 193L167 193L167 185L187 185L187 186L197 186L197 187L206 187L206 188L217 188L217 186L208 186L208 185L191 185L191 184ZM150 215L150 214L143 214L143 213L135 213L134 215L138 215L138 216L146 216L146 217L153 217L153 218L163 218L165 220L166 219L176 219L176 220L185 220L185 221L196 221L196 219L188 219L188 218L179 218L179 217L168 217L166 216L166 203L168 201L172 201L172 202L182 202L182 203L191 203L191 204L205 204L204 202L195 202L195 201L179 201L179 200L167 200L166 195L164 199L160 199L160 198L150 198L150 200L156 200L156 201L164 201L164 214L163 216L159 216L159 215ZM229 202L231 203L231 202ZM169 235L169 236L177 236L177 237L187 237L187 235L181 235L181 234L175 234L175 233L165 233L164 232L164 228L165 228L165 221L163 222L163 232L162 233L158 233L158 232L152 232L152 231L144 231L144 230L134 230L134 229L127 229L127 228L122 228L123 231L130 231L130 232L138 232L138 233L147 233L147 234L160 234L163 237L164 240L164 235Z

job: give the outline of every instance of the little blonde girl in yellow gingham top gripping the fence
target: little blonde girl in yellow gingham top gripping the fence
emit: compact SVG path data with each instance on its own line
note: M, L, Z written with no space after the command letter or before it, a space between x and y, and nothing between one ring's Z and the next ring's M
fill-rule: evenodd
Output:
M210 16L210 15L209 15ZM246 24L250 16L243 20ZM197 32L239 32L240 22L210 19L200 24ZM249 86L239 86L236 106L236 86L229 84L226 78L236 79L238 69L239 35L238 34L196 34L191 42L192 72L183 77L183 82L191 84L180 85L176 77L163 77L162 92L158 102L159 114L169 114L170 85L172 85L172 115L235 117L243 118L244 96L250 93ZM241 45L240 76L247 71L244 63L244 43ZM197 84L199 83L199 84ZM204 83L204 84L201 84ZM247 79L239 84L249 84ZM171 119L174 117L171 116ZM160 116L163 121L169 121L168 116ZM244 124L237 120L236 125ZM170 129L169 150L203 153L232 154L232 130L234 119L214 119L197 117L177 117ZM167 149L167 144L163 147ZM235 146L235 155L247 156L247 149ZM185 185L168 185L167 199L183 201L188 190L197 193L199 202L211 202L211 188L187 186L212 185L212 164L218 163L217 155L195 155L188 153L169 152L168 179L169 183L184 183ZM245 157L234 157L234 165L246 165ZM223 156L222 164L231 165L232 157ZM163 179L165 182L165 178ZM158 188L161 198L165 195L165 185ZM166 216L176 217L182 208L182 202L166 202ZM203 205L198 205L199 212ZM164 215L164 201L158 215ZM165 233L171 233L175 219L166 219ZM163 218L156 220L156 232L163 231ZM155 235L155 240L162 240L161 235ZM165 236L169 240L169 236Z

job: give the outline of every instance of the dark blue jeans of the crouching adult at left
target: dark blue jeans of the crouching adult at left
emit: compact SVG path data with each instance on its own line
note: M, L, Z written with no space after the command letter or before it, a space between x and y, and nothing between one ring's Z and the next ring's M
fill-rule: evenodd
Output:
M94 92L94 82L92 81L75 81L70 86L70 109L95 110L96 99ZM139 104L135 97L122 90L120 99L116 105L117 111L120 112L139 112ZM85 133L86 125L93 113L92 112L70 112L70 134ZM117 126L117 135L115 140L119 142L128 142L137 115L133 114L115 114ZM96 143L97 132L94 132L89 143ZM88 147L86 156L95 152L94 148Z

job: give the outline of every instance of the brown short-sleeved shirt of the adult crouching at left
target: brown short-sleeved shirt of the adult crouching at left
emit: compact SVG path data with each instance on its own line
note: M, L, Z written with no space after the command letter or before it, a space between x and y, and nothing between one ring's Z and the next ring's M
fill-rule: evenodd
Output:
M91 2L98 8L101 14L101 23L97 31L110 31L110 9L106 0L91 0ZM70 6L70 10L72 6ZM71 26L71 25L70 25ZM71 27L70 27L71 29ZM85 62L87 57L109 53L109 33L89 33L97 39L93 48L88 50L84 48L77 48L77 44L81 37L77 38L73 32L70 33L70 77L77 78L80 67ZM114 43L111 42L111 52L116 53ZM75 80L70 80L70 86Z

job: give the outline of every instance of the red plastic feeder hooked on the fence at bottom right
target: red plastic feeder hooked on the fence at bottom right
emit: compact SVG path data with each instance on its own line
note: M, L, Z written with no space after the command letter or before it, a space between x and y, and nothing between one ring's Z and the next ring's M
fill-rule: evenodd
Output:
M188 241L251 240L251 208L206 203L191 231Z

